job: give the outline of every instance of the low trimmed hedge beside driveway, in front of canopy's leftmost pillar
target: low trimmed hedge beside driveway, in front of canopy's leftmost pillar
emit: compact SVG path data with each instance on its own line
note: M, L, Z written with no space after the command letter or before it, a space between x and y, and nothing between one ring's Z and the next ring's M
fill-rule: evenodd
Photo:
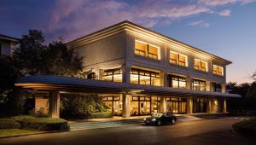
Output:
M13 119L20 123L22 129L69 131L69 125L65 119L36 118L32 116L15 116Z

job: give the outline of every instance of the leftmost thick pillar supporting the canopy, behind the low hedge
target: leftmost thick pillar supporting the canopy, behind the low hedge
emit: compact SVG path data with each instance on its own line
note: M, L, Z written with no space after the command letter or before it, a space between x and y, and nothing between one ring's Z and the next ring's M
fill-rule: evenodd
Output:
M60 94L49 93L49 118L60 118Z

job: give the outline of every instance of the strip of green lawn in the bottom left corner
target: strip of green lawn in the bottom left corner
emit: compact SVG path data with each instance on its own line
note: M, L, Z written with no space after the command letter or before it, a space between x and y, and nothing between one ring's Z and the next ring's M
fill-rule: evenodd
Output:
M42 132L42 131L20 130L20 129L3 129L3 130L0 130L0 137L24 136L24 135L31 135L31 134L40 133L40 132Z

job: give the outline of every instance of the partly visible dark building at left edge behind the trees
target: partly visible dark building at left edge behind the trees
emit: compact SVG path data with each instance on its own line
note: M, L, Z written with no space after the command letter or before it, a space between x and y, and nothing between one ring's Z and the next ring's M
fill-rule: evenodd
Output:
M0 55L12 55L15 46L19 43L19 38L13 38L0 34Z

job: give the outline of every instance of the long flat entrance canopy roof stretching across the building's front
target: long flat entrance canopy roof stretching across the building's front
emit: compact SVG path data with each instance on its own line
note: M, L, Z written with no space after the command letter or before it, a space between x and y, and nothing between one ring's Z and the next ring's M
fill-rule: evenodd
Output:
M26 76L19 78L16 86L28 90L39 91L66 91L66 92L90 92L102 94L121 94L137 92L143 96L222 96L241 97L236 94L218 93L199 90L183 90L162 86L149 86L142 84L127 84L118 82L106 82L84 78L69 78L63 76Z

